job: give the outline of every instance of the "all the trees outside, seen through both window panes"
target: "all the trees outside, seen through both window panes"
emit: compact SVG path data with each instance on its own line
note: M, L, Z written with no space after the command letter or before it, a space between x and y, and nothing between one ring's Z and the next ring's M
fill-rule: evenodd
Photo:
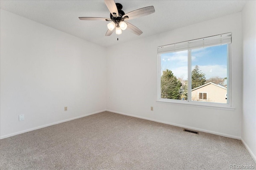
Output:
M213 82L215 84L224 86L225 79L227 78L213 76L206 80L205 74L202 73L199 66L196 65L192 70L191 87L194 89L208 82ZM188 80L177 78L173 75L171 70L164 70L161 76L161 98L188 100Z

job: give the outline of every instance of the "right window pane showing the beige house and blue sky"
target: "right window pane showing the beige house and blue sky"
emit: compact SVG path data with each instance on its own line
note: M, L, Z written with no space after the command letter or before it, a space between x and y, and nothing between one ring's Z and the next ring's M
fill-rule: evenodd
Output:
M191 99L203 91L201 102L227 103L228 45L191 50ZM199 96L200 99L200 96Z

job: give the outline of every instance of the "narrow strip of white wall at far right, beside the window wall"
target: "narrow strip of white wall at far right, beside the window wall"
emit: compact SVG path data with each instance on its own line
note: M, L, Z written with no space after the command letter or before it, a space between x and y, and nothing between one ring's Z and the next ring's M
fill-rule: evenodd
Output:
M243 114L242 141L256 160L256 2L242 10Z

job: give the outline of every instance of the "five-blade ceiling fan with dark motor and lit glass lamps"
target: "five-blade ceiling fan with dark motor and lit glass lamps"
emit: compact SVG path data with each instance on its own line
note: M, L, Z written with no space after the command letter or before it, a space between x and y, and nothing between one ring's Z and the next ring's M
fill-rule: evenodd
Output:
M126 28L132 33L140 35L142 34L142 31L126 21L155 12L154 6L147 6L125 14L124 11L122 11L122 4L115 3L114 0L104 0L104 2L110 11L110 18L79 17L79 19L88 21L112 21L107 25L108 31L106 32L106 36L110 36L114 32L114 28L116 28L117 35L121 34L122 30L125 30Z

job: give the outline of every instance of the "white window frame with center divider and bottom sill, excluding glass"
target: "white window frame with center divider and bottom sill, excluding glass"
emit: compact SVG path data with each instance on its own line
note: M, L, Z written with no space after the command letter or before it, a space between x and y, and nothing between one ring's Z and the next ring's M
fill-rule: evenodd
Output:
M232 34L232 33L226 33L226 34ZM226 35L223 34L223 35ZM212 36L214 37L214 36ZM206 38L202 38L202 39L209 39L209 37ZM198 41L199 39L196 39L196 41ZM194 41L194 40L190 40L190 41ZM187 42L190 42L187 41ZM184 42L182 42L182 44L184 44ZM172 45L167 45L172 46ZM162 46L164 47L164 46ZM204 108L212 108L212 109L224 109L224 110L231 110L234 111L235 107L232 107L232 62L231 62L231 48L232 48L232 44L229 43L228 44L228 66L227 66L227 70L228 70L228 81L227 81L227 85L228 85L228 90L227 90L227 104L222 104L222 103L215 103L215 102L200 102L200 101L192 101L190 100L191 98L191 93L192 93L192 89L191 89L191 85L188 85L188 101L187 100L175 100L175 99L163 99L161 98L161 55L162 53L158 53L158 98L157 98L157 103L163 103L163 104L175 104L175 105L186 105L186 106L192 106L192 107L204 107ZM158 47L159 49L159 47ZM188 82L191 82L191 74L192 74L192 67L191 67L191 49L187 49L188 50L188 65L190 65L190 67L188 67ZM208 95L207 95L208 97Z

